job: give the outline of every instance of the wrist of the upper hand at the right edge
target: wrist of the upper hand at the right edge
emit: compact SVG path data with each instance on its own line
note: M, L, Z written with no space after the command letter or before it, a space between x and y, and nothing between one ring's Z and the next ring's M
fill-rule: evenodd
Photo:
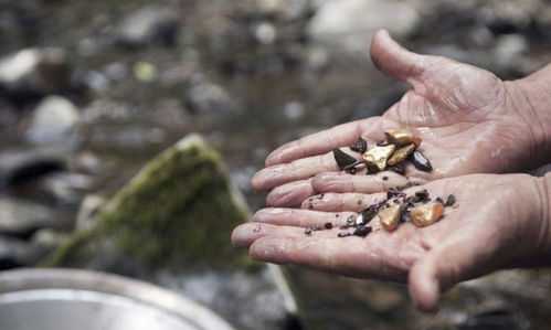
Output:
M528 127L523 162L541 166L551 161L551 64L522 79L505 82L510 107Z

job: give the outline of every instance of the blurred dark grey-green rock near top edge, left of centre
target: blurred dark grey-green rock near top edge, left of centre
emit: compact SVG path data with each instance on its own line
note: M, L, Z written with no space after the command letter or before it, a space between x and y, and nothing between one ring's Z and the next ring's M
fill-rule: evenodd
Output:
M128 13L120 22L114 42L127 49L173 45L178 36L178 10L151 4Z

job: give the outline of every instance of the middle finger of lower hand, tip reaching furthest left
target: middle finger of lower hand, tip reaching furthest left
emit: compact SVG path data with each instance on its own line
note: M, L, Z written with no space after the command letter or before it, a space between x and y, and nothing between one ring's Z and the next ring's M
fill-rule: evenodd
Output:
M232 243L236 247L248 247L254 241L264 237L317 237L317 238L335 238L338 235L338 228L335 230L316 230L306 234L305 228L295 226L279 226L266 223L244 223L235 227L232 233Z

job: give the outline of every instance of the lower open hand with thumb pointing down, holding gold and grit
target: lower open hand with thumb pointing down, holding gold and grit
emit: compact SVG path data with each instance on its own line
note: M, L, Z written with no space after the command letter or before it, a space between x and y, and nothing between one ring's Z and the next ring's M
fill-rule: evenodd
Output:
M500 268L550 263L549 196L543 179L474 174L435 180L405 192L421 189L433 199L454 194L456 206L446 207L444 217L427 227L406 223L389 233L373 223L374 231L367 237L339 238L338 227L347 216L385 200L385 194L325 194L314 198L318 211L261 210L253 222L234 230L232 241L248 247L251 257L261 262L407 280L423 311L434 311L439 294L459 281ZM327 222L335 227L305 234L305 227L324 227Z

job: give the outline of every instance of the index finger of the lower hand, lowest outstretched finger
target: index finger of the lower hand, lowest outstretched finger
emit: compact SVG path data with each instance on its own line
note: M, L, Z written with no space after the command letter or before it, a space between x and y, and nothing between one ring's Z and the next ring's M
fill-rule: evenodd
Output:
M421 252L418 245L412 244L412 239L396 233L378 231L367 237L341 238L266 236L251 245L250 254L259 262L294 264L353 277L403 281Z

